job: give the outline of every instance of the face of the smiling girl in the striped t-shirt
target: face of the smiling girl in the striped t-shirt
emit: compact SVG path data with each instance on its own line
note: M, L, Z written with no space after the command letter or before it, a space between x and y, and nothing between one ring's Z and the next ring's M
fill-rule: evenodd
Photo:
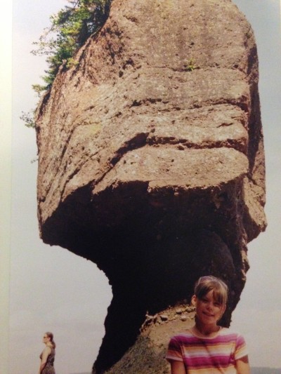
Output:
M213 290L198 299L192 296L192 304L196 307L197 319L204 325L213 325L218 322L226 310L226 305L216 302L213 297Z

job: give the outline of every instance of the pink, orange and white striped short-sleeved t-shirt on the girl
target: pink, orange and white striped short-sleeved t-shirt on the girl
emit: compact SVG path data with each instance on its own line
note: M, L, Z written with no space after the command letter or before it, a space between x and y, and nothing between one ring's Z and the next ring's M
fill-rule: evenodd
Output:
M236 374L235 360L247 356L242 335L221 328L214 338L191 330L171 338L166 359L183 361L188 374Z

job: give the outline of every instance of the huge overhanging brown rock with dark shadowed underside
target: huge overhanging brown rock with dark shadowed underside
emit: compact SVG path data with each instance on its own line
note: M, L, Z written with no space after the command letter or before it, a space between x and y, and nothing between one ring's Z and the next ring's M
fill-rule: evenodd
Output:
M266 227L258 60L230 0L113 0L77 61L37 109L39 227L112 285L103 373L203 274L230 323Z

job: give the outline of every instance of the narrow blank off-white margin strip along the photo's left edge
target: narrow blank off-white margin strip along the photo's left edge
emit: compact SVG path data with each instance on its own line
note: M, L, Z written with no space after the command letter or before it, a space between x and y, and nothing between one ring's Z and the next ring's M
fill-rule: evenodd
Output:
M0 12L0 373L8 373L8 305L11 239L12 4Z

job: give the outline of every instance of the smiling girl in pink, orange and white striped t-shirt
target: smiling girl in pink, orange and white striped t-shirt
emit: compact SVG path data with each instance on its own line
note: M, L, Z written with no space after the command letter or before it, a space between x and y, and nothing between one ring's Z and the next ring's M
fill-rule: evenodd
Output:
M244 338L218 325L227 298L228 287L221 279L202 276L197 281L191 299L195 326L169 342L171 374L250 374Z

